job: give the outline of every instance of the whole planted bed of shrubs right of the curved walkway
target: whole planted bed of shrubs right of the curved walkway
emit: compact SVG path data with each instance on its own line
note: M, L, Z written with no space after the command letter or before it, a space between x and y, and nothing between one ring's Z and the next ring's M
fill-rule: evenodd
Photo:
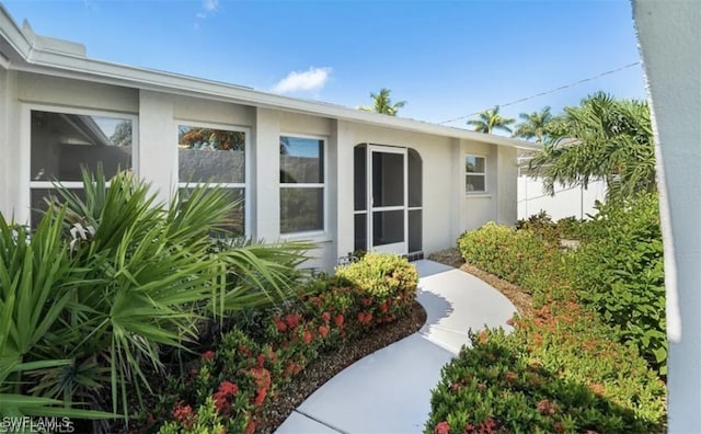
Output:
M568 219L564 227L582 236L576 250L562 249L562 225L543 217L520 230L490 224L460 237L470 263L462 270L493 273L475 274L499 290L509 281L532 310L519 308L513 333L471 334L472 346L441 372L425 432L664 432L656 198L602 206L595 221L574 228ZM455 252L438 258L456 264Z

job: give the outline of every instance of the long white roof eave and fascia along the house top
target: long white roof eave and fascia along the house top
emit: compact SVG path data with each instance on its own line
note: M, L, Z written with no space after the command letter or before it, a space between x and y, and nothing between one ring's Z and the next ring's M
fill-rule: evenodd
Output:
M168 91L170 93L207 95L209 98L235 101L243 104L281 108L322 115L343 121L359 122L376 126L401 128L416 133L433 134L472 141L494 144L520 149L539 149L536 144L509 137L487 135L428 122L365 112L345 106L284 96L251 88L206 80L184 75L137 68L56 49L45 48L27 38L5 9L0 4L0 36L16 52L24 65L9 58L9 69L42 72L78 79L90 79L137 89ZM97 79L97 80L95 80Z

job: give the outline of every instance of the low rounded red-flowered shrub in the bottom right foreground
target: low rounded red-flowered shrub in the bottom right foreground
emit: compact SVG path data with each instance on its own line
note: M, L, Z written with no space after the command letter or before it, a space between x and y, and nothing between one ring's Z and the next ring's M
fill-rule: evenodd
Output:
M517 321L509 335L472 333L473 347L441 370L425 432L660 431L664 384L595 318L567 310L576 317Z

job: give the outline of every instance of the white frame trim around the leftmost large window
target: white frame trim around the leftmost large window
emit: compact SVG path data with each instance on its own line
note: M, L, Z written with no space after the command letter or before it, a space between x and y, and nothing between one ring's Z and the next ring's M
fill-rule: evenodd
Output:
M20 114L20 189L23 192L19 197L19 206L16 209L18 221L26 221L32 224L32 190L33 189L54 189L54 181L32 181L32 112L49 112L64 114L78 114L88 116L118 117L131 121L131 172L139 176L139 115L128 112L82 108L74 106L66 106L58 104L35 104L23 103ZM67 189L81 189L81 181L64 181L58 180L60 184ZM110 186L110 182L107 182Z

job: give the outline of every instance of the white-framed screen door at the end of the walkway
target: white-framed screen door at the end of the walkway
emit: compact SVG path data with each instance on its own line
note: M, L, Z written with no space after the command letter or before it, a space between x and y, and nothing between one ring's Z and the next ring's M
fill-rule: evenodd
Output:
M370 250L409 253L406 148L369 146L367 197Z

